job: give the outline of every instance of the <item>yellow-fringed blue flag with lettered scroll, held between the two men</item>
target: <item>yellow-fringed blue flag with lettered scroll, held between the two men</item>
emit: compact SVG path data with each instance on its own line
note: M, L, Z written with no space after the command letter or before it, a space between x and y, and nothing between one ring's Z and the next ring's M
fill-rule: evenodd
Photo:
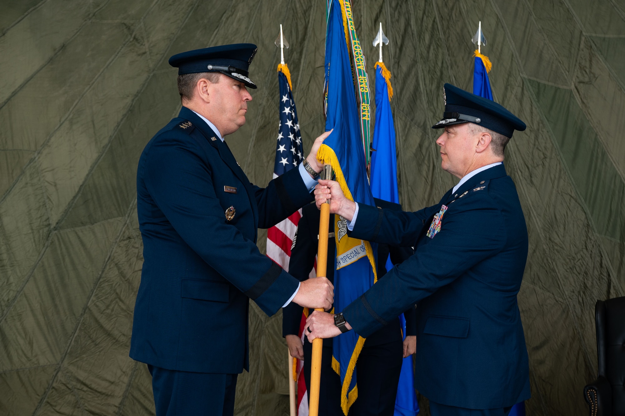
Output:
M362 141L362 126L366 125L367 132L369 128L369 84L349 0L329 2L325 69L326 131L334 131L322 144L317 159L332 166L348 199L375 205L367 181ZM362 104L366 104L364 111ZM366 149L368 153L368 146ZM348 237L347 220L334 217L334 310L340 311L376 282L376 245ZM358 395L356 360L364 338L349 331L334 338L332 345L332 368L341 376L341 408L347 415Z

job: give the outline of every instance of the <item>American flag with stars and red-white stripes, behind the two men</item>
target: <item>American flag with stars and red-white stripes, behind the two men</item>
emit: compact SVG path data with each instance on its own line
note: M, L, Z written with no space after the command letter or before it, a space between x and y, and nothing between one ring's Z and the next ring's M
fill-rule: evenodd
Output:
M304 161L302 136L299 132L295 102L291 94L289 80L282 71L278 71L280 85L280 124L276 144L276 162L273 177L276 178L291 169L297 169ZM289 271L291 247L297 230L301 210L267 230L267 256Z

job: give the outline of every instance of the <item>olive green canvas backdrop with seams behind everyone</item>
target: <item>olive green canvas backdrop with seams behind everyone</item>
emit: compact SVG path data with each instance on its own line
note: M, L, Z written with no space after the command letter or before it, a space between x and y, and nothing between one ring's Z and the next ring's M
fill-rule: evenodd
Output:
M304 149L324 131L325 9L323 0L0 3L0 414L154 414L146 365L128 350L143 262L136 167L180 107L167 60L259 46L259 88L227 141L262 186L276 146L279 24ZM399 192L411 210L457 181L441 170L430 127L444 82L471 91L481 20L495 100L527 123L505 161L529 231L518 297L527 414L586 414L594 302L625 289L625 1L354 0L353 10L372 91L379 22L390 39ZM267 317L251 302L249 321L236 414L286 415L281 312Z

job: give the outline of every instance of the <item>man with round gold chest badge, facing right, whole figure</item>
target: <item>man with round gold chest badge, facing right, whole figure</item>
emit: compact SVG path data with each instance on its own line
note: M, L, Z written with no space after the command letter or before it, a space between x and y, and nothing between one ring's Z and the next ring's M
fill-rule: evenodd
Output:
M156 414L232 415L249 370L249 299L267 315L295 302L330 309L325 277L299 282L256 247L257 229L313 201L317 137L299 169L252 185L224 137L245 124L253 44L174 55L183 107L146 145L137 171L144 264L130 356L148 364Z

